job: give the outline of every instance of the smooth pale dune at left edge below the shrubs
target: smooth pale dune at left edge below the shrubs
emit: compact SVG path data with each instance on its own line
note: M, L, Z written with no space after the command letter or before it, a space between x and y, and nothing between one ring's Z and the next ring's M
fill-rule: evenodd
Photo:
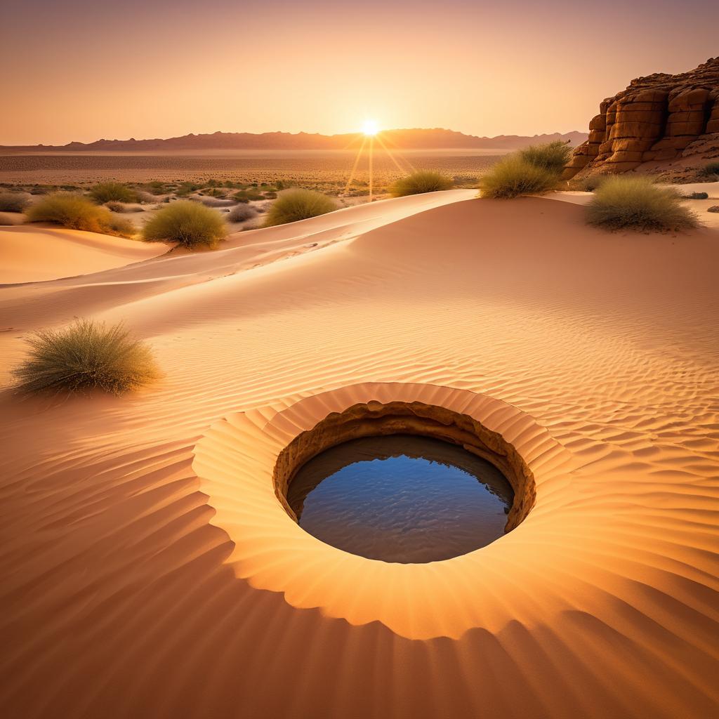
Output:
M163 255L162 242L73 229L0 227L0 284L42 282L121 267Z

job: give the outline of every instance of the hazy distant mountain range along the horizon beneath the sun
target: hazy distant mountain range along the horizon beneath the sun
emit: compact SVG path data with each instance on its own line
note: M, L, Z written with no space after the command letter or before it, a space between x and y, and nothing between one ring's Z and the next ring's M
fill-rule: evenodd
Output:
M572 146L585 142L586 132L553 132L532 137L498 135L475 137L446 129L383 130L377 137L388 147L400 150L516 150L538 142L560 139ZM214 132L187 134L168 139L99 139L96 142L69 142L68 145L0 145L5 154L31 152L188 152L193 150L345 150L356 149L360 133L323 135L306 132Z

